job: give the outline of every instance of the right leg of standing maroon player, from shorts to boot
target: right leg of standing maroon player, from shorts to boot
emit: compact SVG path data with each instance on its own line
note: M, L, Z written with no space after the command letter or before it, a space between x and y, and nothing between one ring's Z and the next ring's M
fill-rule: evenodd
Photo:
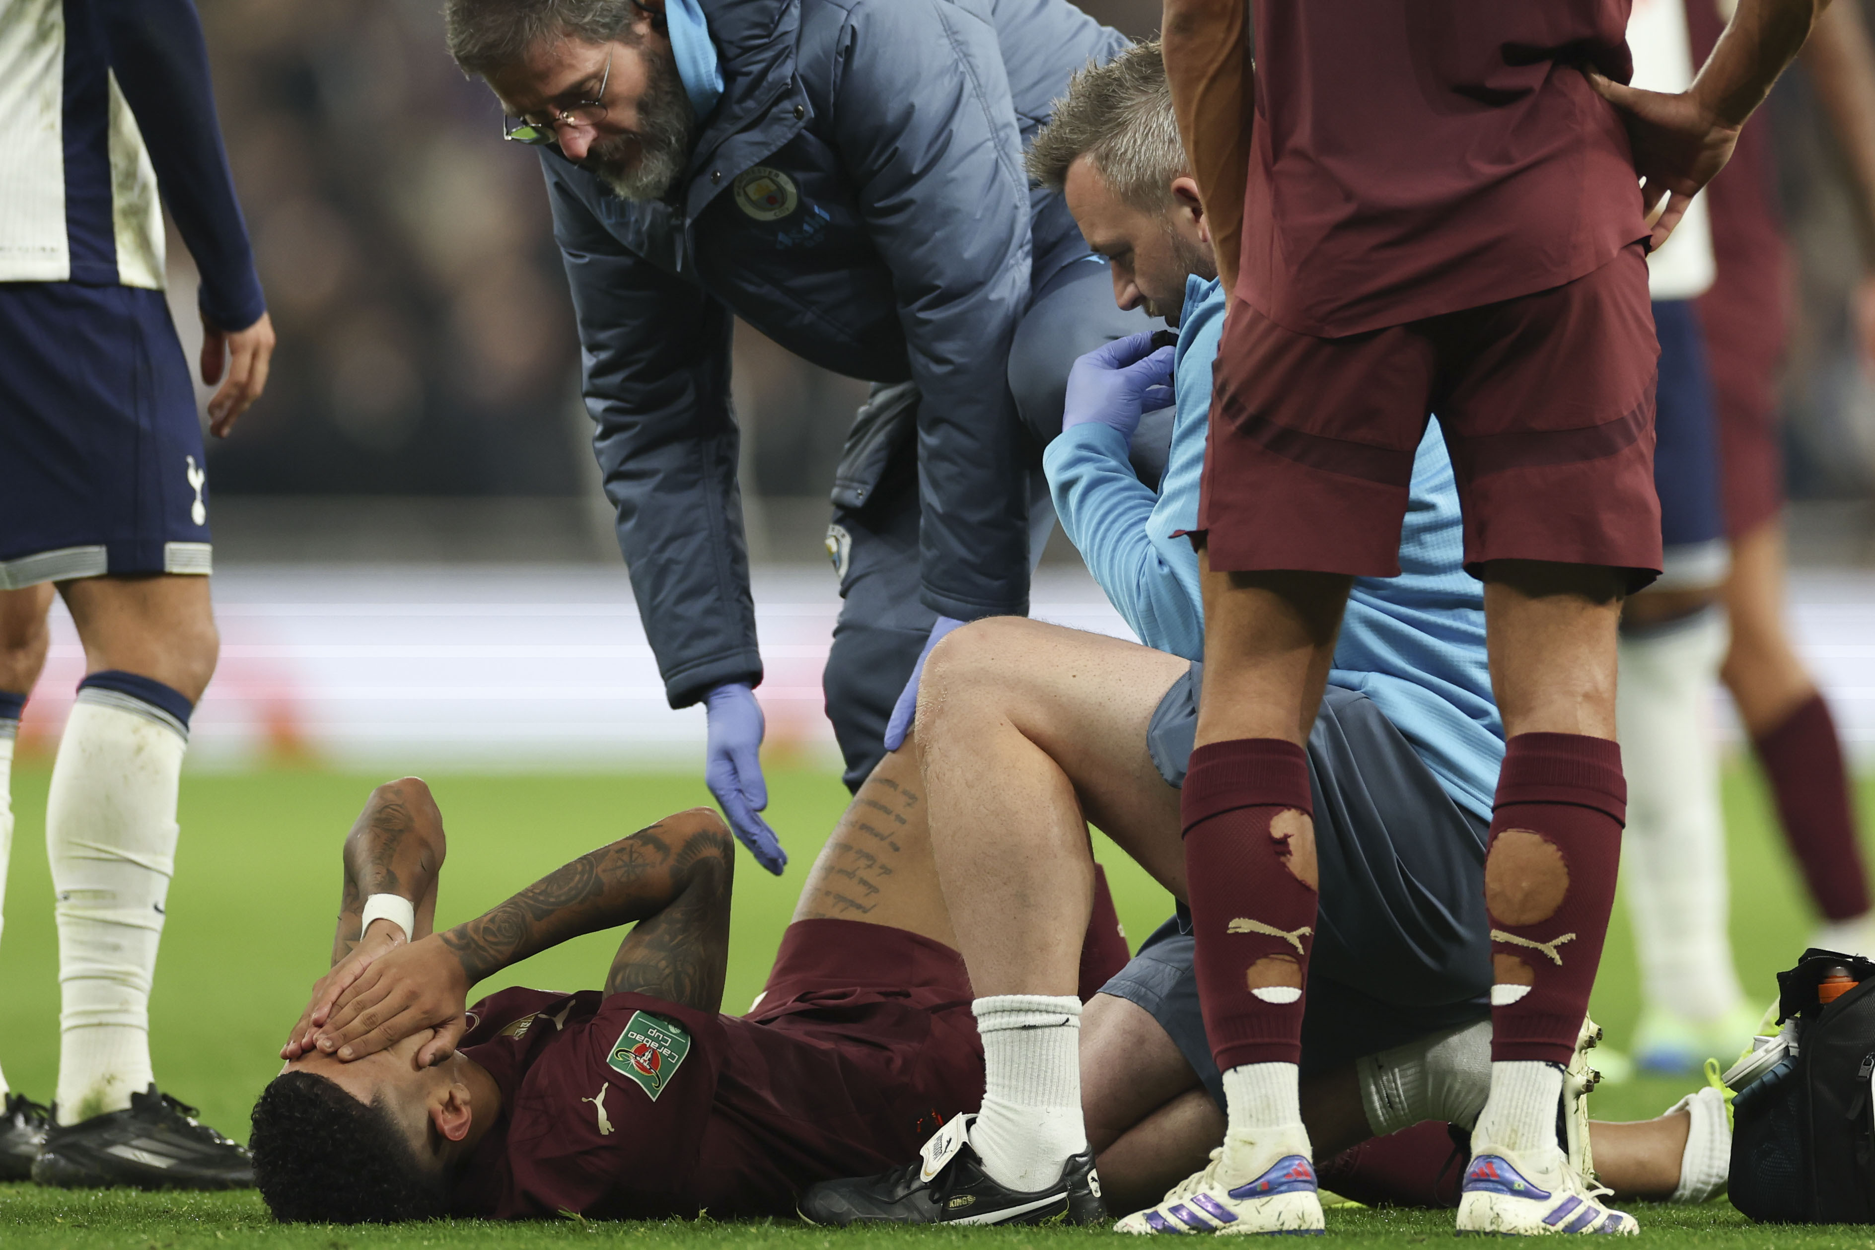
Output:
M1656 347L1633 246L1573 283L1429 322L1453 379L1434 399L1485 581L1504 718L1485 903L1491 1100L1472 1136L1461 1231L1633 1231L1556 1145L1564 1066L1601 961L1626 819L1614 742L1622 598L1661 564ZM1534 1199L1508 1173L1551 1199ZM1562 1205L1556 1205L1562 1203ZM1581 1207L1581 1211L1577 1211Z

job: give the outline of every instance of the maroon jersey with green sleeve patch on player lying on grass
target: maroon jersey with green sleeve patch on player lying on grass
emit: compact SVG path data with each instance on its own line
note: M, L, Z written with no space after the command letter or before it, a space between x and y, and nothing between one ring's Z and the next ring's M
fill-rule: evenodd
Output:
M874 952L922 943L864 930ZM463 1053L502 1111L458 1179L461 1214L791 1216L808 1184L915 1158L982 1096L968 984L848 984L746 1018L504 990L474 1016Z

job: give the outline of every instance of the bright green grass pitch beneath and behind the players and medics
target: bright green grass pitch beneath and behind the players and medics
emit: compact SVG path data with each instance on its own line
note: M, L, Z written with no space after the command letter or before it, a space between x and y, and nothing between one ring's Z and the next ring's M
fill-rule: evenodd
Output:
M182 847L169 900L169 928L150 1004L156 1074L163 1089L202 1108L202 1117L246 1136L248 1108L272 1078L285 1029L326 963L338 903L338 849L369 787L382 778L321 770L272 768L248 774L191 774L182 785ZM649 825L673 810L709 802L696 776L431 776L450 832L439 924L480 913L519 885L592 845ZM47 772L24 766L13 780L17 836L6 896L6 939L0 943L0 1063L8 1081L49 1098L58 1061L58 956L52 931L51 879L45 864ZM737 873L735 926L726 1003L746 1004L767 975L769 960L793 911L806 866L846 804L831 774L776 768L769 774L769 815L793 862L782 879L742 860ZM1811 916L1789 860L1776 840L1755 774L1725 780L1731 836L1732 939L1740 975L1766 1001L1774 973L1789 967L1804 945ZM1875 810L1875 793L1864 795ZM1144 937L1168 913L1168 900L1125 856L1102 845L1127 931ZM585 988L604 978L615 939L594 935L553 950L518 976L484 986L525 982ZM1637 1016L1633 948L1626 915L1616 907L1596 1018L1609 1042L1622 1046ZM1594 1096L1599 1119L1658 1115L1691 1087L1689 1081L1637 1078L1605 1085ZM1674 1231L1701 1244L1770 1246L1852 1244L1875 1250L1875 1235L1761 1229L1727 1203L1702 1209L1648 1209L1650 1233ZM1344 1211L1329 1216L1342 1241L1410 1244L1449 1235L1446 1214ZM859 1244L851 1235L771 1224L652 1224L630 1229L591 1224L488 1226L472 1222L407 1226L388 1231L281 1229L251 1194L148 1196L64 1194L0 1186L0 1243L11 1246L167 1248L240 1239L244 1243L366 1250L418 1244L544 1244L583 1237L654 1237L662 1243L788 1246L819 1250ZM891 1237L951 1244L990 1237L999 1246L1028 1246L1089 1233L922 1231L862 1233L864 1244ZM949 1239L949 1241L947 1241Z

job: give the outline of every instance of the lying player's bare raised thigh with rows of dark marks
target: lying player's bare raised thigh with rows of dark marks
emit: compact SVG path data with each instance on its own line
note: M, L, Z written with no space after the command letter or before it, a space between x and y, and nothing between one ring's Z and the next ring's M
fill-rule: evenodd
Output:
M956 946L932 862L924 778L908 738L872 770L801 888L795 920L862 920Z

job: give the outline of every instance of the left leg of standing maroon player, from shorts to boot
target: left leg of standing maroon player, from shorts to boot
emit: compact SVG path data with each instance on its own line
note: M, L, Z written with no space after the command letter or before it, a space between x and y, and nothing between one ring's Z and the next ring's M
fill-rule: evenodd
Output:
M1406 330L1314 339L1241 300L1219 349L1198 519L1204 692L1181 825L1228 1121L1204 1199L1243 1229L1322 1228L1298 1066L1318 911L1303 744L1352 577L1399 572L1432 377ZM1159 1228L1172 1205L1127 1228Z

